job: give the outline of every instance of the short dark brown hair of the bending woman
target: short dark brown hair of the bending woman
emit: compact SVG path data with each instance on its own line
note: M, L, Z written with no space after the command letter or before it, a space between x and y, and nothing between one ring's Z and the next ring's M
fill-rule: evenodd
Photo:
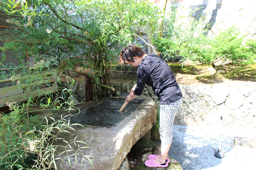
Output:
M119 63L124 64L125 61L128 62L134 62L133 57L143 57L145 54L145 51L140 49L139 47L135 45L129 45L128 47L125 47L120 52L120 60Z

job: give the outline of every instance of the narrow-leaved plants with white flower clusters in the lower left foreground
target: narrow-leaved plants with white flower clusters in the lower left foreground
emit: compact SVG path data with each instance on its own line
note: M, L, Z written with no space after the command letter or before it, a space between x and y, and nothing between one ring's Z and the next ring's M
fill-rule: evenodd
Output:
M49 81L49 74L56 77L55 82ZM68 113L74 110L75 106L73 101L66 99L66 96L70 96L72 91L60 87L59 93L55 88L42 90L42 84L45 87L52 87L53 84L60 83L61 78L74 83L72 78L47 67L43 60L35 63L33 69L13 69L10 74L1 75L1 78L9 78L12 81L7 84L8 87L17 86L17 92L22 90L26 102L7 103L10 112L0 114L0 169L56 169L55 161L61 159L54 155L58 146L54 143L56 139L66 143L65 146L58 146L65 148L62 154L67 156L66 159L79 155L91 162L91 156L82 153L83 149L88 148L84 141L77 141L75 138L74 141L67 142L64 137L59 137L63 136L61 134L64 132L72 133L75 131L73 126L79 125L69 122L72 115ZM38 95L34 95L35 93ZM40 107L38 111L65 111L66 114L58 120L53 117L42 118L29 109L35 106ZM78 149L72 148L72 144L78 144Z

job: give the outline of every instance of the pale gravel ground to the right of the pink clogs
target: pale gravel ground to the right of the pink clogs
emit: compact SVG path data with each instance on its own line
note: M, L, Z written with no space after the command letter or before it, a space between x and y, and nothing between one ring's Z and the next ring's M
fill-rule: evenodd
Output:
M185 132L180 131L183 128L186 128ZM223 159L214 157L219 149L220 134ZM256 154L237 155L233 148L235 136L255 138L256 130L173 125L173 141L168 155L177 160L183 170L255 170Z

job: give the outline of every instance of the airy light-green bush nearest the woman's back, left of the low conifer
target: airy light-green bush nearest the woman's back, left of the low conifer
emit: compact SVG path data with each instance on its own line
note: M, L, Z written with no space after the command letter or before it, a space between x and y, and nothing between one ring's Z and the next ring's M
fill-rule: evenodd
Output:
M180 15L182 9L174 8L164 17L163 37L155 37L153 44L163 53L168 61L170 57L182 56L182 60L198 61L205 56L209 48L207 39L200 21Z

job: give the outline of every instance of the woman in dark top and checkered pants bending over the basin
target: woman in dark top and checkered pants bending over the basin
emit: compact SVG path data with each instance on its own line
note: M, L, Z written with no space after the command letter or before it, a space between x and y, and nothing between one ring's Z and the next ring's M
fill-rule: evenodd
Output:
M182 100L179 85L170 67L163 59L155 54L145 54L145 51L137 46L130 45L123 48L119 62L137 67L137 84L131 89L125 102L140 96L145 85L152 87L160 101L161 153L149 155L149 160L145 162L145 165L148 167L167 167L170 162L167 159L167 154L172 142L173 121Z

